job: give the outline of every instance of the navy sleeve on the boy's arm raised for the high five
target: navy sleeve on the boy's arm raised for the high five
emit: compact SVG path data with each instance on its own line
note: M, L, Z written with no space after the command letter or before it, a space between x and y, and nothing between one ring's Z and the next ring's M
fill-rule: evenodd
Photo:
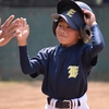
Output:
M24 74L29 74L32 77L36 77L39 74L44 74L47 56L45 52L39 51L36 57L29 58L27 46L19 47L20 49L20 63Z

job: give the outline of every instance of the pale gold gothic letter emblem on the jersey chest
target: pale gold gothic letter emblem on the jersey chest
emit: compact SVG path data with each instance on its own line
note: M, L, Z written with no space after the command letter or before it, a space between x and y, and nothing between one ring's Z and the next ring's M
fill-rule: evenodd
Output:
M76 78L76 76L77 76L77 72L78 72L78 66L76 66L76 65L70 65L69 68L68 68L68 70L69 70L69 78L71 78L71 77L74 77L74 78Z

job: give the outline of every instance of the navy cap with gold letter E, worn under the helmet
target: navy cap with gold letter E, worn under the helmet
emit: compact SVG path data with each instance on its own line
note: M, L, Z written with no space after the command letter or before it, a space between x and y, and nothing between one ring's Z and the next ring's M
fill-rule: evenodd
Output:
M80 31L80 27L85 25L84 19L82 17L82 14L75 10L75 9L69 9L63 11L62 13L53 13L51 17L55 21L58 21L59 17L62 17L65 20L65 22L69 24L70 27L73 29Z

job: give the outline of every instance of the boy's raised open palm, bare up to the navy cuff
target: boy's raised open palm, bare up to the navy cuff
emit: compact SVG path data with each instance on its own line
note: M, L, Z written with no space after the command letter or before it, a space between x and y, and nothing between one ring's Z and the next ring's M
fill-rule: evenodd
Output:
M17 43L19 46L26 46L27 45L27 37L29 34L29 26L26 22L26 19L21 17L19 22L19 29L16 31L17 33Z

